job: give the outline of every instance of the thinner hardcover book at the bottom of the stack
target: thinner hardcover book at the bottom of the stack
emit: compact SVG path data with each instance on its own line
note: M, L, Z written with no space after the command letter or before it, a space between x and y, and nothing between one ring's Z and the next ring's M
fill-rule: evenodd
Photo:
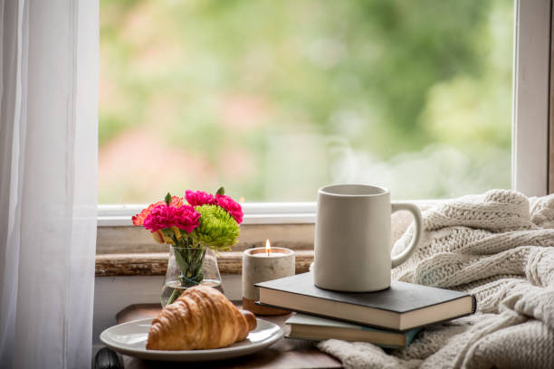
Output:
M315 341L334 338L345 341L369 342L391 348L406 347L421 330L421 328L414 328L406 332L394 332L304 314L295 314L285 323L291 327L291 333L288 335L290 338Z

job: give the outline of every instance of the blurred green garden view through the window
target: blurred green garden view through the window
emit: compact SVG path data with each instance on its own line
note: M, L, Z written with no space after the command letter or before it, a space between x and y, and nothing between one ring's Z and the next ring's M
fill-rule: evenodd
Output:
M510 187L509 0L101 0L99 203Z

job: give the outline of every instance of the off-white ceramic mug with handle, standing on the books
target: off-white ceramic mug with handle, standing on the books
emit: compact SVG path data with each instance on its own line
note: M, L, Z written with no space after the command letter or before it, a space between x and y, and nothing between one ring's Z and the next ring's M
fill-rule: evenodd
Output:
M416 232L405 251L391 258L391 213L414 214ZM390 270L416 250L422 230L419 208L391 203L387 189L372 185L328 185L318 192L314 283L321 289L369 292L390 287Z

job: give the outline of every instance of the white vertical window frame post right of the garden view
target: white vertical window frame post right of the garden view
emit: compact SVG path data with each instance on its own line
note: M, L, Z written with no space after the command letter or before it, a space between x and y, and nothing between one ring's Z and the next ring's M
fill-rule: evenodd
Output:
M549 193L551 9L514 4L511 187L528 196Z

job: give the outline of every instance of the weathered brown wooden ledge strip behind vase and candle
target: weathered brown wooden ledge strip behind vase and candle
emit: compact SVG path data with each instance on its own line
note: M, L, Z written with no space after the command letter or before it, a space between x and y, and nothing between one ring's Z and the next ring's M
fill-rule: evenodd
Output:
M313 250L294 252L296 273L308 271L313 261ZM97 254L96 277L165 275L168 257L168 252ZM221 252L217 258L217 265L221 274L241 274L243 252Z

